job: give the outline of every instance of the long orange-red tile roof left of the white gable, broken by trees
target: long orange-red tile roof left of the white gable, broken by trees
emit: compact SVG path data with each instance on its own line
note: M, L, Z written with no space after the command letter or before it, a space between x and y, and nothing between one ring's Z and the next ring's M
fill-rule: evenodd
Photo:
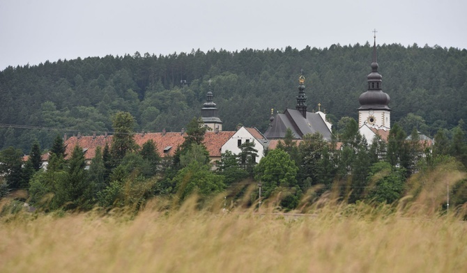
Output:
M209 152L210 157L220 157L220 148L229 140L235 132L233 131L221 131L221 132L206 132L204 135L204 146ZM135 134L135 142L139 146L143 146L148 140L152 139L157 148L158 153L164 156L173 156L176 148L185 141L184 136L180 132L167 132L167 133L146 133L146 134ZM73 148L79 145L83 149L87 149L84 153L85 159L93 159L95 157L95 149L100 146L104 148L105 143L109 146L112 145L112 136L98 136L98 137L70 137L65 141L66 145L66 158L70 158ZM168 153L164 153L164 149L171 147Z

